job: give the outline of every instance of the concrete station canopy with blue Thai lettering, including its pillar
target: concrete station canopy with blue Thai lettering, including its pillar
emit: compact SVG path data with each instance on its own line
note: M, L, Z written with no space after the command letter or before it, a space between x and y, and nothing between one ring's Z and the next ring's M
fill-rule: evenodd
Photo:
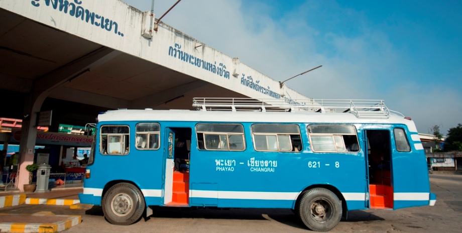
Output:
M0 117L23 119L18 188L38 112L84 126L116 108L192 109L193 97L307 99L154 16L116 1L0 1Z

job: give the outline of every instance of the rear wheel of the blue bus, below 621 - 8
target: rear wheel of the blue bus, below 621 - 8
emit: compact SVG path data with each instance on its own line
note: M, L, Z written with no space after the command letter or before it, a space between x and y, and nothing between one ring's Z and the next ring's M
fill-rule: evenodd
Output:
M303 223L314 231L329 231L340 221L341 201L330 190L313 188L302 193L297 204Z

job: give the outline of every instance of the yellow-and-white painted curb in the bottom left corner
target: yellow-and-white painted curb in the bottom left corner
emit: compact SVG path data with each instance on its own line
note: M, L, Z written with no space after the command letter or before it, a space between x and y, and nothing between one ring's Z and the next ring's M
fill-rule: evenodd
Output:
M0 231L5 232L60 232L81 222L78 215L50 215L50 214L2 214L5 218L17 217L62 217L64 219L52 223L24 223L24 222L0 222Z

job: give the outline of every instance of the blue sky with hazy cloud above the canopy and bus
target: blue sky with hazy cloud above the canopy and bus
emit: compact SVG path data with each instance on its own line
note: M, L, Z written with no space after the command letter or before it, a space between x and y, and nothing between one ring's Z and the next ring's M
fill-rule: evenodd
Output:
M322 65L285 82L309 98L383 99L424 134L462 124L462 1L181 0L162 22L277 81Z

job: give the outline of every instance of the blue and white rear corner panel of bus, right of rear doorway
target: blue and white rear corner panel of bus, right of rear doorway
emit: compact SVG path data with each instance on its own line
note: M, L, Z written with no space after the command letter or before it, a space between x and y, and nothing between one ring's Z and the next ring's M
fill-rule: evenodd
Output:
M394 137L392 139L394 209L428 205L430 201L430 182L422 144L417 132L404 128L411 152L397 151Z

